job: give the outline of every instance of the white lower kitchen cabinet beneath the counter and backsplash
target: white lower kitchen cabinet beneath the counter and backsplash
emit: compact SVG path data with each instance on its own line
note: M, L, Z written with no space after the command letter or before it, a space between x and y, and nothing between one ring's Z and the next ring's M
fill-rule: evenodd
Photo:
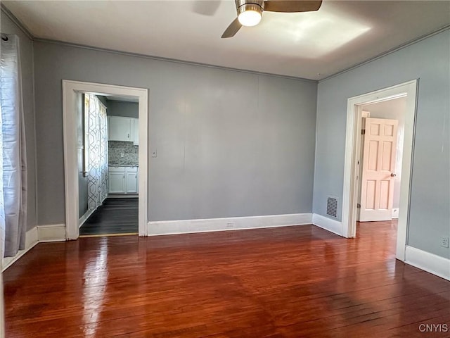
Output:
M110 194L137 194L138 168L124 166L109 167Z

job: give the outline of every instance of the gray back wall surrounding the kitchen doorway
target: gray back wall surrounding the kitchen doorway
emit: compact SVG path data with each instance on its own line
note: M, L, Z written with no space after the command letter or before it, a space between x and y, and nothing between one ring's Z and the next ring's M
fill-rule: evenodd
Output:
M149 89L149 218L310 213L317 84L34 43L39 224L65 222L61 80Z

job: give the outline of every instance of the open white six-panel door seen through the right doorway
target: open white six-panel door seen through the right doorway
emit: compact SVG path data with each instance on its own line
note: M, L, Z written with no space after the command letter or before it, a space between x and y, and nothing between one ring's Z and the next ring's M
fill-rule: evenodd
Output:
M359 221L392 219L397 120L364 118L364 150Z

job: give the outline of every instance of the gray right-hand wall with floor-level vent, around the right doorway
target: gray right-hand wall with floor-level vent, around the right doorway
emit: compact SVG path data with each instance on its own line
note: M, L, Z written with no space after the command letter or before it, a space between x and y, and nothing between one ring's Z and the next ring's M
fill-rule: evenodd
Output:
M326 215L328 194L342 202L347 99L418 78L407 242L450 256L449 249L439 246L440 237L450 234L449 65L450 30L446 30L319 83L314 213Z

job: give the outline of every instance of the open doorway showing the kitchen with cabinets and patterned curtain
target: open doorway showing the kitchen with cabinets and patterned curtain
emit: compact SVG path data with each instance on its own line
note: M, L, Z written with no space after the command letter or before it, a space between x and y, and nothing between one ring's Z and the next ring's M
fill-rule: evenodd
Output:
M138 234L138 99L79 96L80 237Z

